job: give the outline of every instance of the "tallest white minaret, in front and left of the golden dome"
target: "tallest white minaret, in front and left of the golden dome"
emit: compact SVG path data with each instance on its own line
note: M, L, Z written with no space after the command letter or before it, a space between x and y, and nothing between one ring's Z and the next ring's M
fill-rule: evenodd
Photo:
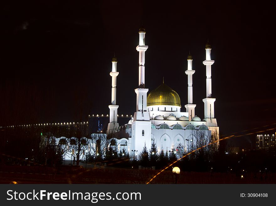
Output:
M145 34L146 31L144 28L139 29L139 45L136 47L136 50L139 52L139 84L138 88L135 89L136 93L136 111L141 111L141 114L146 112L146 97L148 89L145 89L145 52L148 46L145 45ZM144 115L142 115L144 116ZM136 116L137 120L144 120L143 117ZM134 118L135 120L135 118Z

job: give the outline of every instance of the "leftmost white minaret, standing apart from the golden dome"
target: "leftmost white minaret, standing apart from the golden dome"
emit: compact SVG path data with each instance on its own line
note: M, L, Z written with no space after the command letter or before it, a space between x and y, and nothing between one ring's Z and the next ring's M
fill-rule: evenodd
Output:
M116 81L119 72L117 72L117 58L112 58L112 71L110 72L110 76L112 77L112 88L111 88L111 105L109 105L109 124L107 127L108 132L110 130L114 130L116 127L119 126L117 123L117 110L119 105L116 105Z

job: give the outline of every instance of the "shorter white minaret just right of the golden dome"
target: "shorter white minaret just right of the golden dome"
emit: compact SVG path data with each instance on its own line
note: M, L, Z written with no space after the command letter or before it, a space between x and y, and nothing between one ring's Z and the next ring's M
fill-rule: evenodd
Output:
M186 112L189 113L189 121L194 117L194 108L196 104L193 104L193 57L189 53L188 58L188 69L185 71L185 74L188 75L188 104L185 105Z

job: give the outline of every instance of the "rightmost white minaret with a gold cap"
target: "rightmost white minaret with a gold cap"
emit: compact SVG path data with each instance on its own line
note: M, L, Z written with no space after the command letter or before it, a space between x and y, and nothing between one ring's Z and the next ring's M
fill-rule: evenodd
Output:
M209 44L209 42L207 42L205 50L206 50L206 60L203 61L203 64L206 65L206 98L203 99L204 117L206 121L208 120L212 123L212 119L215 118L215 115L214 115L215 98L211 98L211 95L212 95L211 65L214 64L215 61L211 60L211 45Z

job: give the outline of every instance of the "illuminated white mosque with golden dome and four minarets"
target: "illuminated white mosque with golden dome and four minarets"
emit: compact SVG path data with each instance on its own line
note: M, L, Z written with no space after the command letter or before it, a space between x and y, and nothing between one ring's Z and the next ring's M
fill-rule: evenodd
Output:
M161 84L156 89L148 93L149 89L145 88L145 52L148 46L145 45L144 28L139 30L139 45L136 50L139 52L139 84L135 89L136 93L136 112L133 118L126 125L120 126L117 122L117 110L119 105L116 104L116 78L117 58L112 59L112 95L111 104L109 105L109 124L108 132L114 132L117 138L118 149L125 148L131 155L137 155L146 144L148 150L151 143L155 141L157 150L160 152L171 151L173 148L178 154L188 150L188 144L193 141L192 135L196 131L205 131L210 135L212 131L218 134L219 127L215 119L214 103L215 98L211 97L211 47L207 43L206 60L203 64L206 66L206 98L204 102L204 119L200 119L195 114L196 104L193 103L193 58L189 54L187 61L188 67L185 74L188 76L188 102L185 105L186 111L181 111L180 98L176 91ZM191 144L191 142L190 142Z

